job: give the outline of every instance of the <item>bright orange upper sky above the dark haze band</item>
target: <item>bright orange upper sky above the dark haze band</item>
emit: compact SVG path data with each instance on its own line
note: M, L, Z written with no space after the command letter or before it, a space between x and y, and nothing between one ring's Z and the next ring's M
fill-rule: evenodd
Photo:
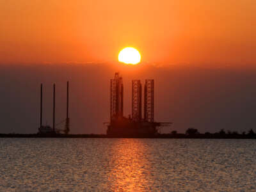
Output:
M0 0L0 63L256 64L255 0Z

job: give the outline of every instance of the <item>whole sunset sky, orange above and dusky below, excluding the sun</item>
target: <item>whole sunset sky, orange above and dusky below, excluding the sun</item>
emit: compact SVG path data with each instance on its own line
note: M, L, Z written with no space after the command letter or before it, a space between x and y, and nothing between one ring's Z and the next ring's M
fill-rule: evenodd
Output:
M256 127L255 0L0 0L0 132L37 132L40 83L44 124L65 118L70 81L71 133L106 133L109 79L155 79L155 117L164 132ZM118 63L126 46L136 66ZM255 130L256 131L256 130Z

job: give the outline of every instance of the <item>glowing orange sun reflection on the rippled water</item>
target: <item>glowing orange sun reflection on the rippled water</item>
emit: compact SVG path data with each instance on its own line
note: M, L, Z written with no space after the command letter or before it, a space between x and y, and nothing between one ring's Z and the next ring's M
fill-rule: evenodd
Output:
M146 150L148 147L142 140L116 140L108 175L114 191L148 191L153 175L144 156Z

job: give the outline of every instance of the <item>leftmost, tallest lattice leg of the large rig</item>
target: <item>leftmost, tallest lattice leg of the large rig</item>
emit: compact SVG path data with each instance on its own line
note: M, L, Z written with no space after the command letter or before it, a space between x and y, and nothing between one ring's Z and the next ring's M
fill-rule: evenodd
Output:
M110 120L123 116L124 86L122 77L115 73L110 80Z

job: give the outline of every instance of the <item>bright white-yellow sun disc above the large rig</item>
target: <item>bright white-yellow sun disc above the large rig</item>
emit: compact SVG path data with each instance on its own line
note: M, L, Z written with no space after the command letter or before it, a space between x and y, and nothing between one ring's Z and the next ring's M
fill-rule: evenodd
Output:
M125 47L118 54L118 61L122 63L136 65L140 60L140 52L133 47Z

